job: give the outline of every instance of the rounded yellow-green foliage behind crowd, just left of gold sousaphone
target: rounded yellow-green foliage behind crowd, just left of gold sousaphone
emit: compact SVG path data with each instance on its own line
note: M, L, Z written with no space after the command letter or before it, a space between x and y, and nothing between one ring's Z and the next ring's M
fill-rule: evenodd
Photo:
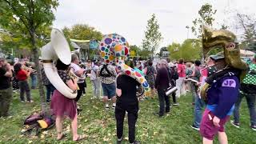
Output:
M198 39L186 39L182 44L172 43L167 46L170 51L170 58L178 60L183 58L186 61L198 60L201 57L201 41Z

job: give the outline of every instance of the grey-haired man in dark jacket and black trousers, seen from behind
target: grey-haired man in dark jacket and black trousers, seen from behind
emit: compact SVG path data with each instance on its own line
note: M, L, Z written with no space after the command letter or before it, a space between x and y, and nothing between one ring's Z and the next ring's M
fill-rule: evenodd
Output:
M160 68L158 70L157 78L155 81L155 87L158 90L158 100L160 105L160 110L158 113L159 117L165 114L165 102L166 102L166 113L170 112L170 98L166 95L166 90L169 88L169 76L167 70L167 62L162 59L160 62Z

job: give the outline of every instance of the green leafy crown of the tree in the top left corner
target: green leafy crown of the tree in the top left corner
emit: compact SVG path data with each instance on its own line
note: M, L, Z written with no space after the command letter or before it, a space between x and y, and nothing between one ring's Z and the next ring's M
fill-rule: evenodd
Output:
M54 20L53 10L58 6L57 0L3 0L0 4L0 26L10 37L18 39L13 45L17 48L32 47L32 37L37 38L37 47L45 44Z

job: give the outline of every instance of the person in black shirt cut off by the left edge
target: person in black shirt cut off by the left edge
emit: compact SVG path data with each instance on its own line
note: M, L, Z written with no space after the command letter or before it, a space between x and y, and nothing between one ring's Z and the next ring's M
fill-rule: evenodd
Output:
M10 85L12 75L10 64L6 63L4 58L0 58L0 117L8 116L13 92Z

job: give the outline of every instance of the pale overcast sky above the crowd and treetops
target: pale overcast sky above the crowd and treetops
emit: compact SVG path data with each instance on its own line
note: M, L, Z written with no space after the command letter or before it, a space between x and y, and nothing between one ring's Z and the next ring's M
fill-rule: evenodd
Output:
M187 38L186 26L192 26L206 2L218 10L215 27L225 22L237 34L235 12L256 12L256 0L60 0L54 27L88 24L103 34L121 34L131 45L141 46L147 20L156 14L163 36L160 46L167 46ZM193 37L189 32L189 38Z

